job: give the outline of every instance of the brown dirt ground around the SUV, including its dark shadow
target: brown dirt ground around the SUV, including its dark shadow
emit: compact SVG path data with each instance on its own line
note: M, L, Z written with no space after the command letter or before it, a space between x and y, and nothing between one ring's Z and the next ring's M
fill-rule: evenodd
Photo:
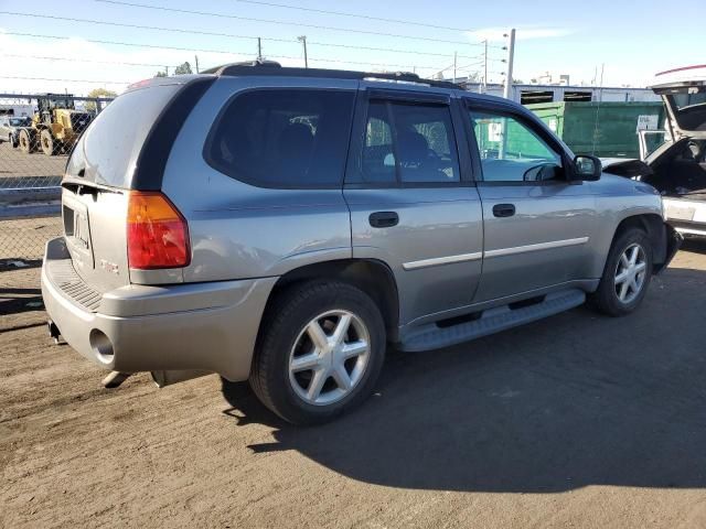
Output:
M216 376L103 389L38 276L0 272L1 527L706 527L706 245L629 317L391 352L311 429Z

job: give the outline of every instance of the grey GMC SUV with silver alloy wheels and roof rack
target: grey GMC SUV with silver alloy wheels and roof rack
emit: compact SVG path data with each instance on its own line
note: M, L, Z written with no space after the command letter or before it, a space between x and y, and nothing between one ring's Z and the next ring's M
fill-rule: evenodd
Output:
M146 80L62 186L52 335L113 384L249 380L295 423L362 402L388 343L437 349L587 299L629 314L681 240L653 187L601 175L514 102L413 74Z

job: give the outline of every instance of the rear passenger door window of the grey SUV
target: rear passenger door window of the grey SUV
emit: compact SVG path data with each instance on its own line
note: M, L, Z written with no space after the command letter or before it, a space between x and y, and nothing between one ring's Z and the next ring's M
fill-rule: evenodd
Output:
M448 107L372 101L362 154L365 182L431 183L460 181Z

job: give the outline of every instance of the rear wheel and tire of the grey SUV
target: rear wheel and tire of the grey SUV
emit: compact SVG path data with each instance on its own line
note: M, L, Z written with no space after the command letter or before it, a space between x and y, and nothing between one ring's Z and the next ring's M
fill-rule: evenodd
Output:
M385 347L383 316L367 294L339 281L303 283L277 295L263 316L249 382L286 421L327 422L372 393ZM354 356L343 360L346 354Z

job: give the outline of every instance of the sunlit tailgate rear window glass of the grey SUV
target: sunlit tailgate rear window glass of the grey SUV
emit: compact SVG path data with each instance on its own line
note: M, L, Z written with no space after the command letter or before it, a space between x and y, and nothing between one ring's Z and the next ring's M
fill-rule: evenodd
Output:
M147 134L169 100L183 85L128 91L111 101L88 126L66 171L85 170L85 180L130 187L137 156Z

